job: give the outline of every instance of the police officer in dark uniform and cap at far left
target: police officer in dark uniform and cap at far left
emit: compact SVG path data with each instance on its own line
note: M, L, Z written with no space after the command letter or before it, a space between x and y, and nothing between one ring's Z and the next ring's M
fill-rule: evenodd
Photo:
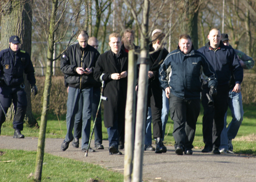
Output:
M26 114L27 97L24 90L23 73L31 85L31 92L37 95L34 67L26 51L20 50L20 38L11 36L9 49L0 51L0 134L8 108L13 102L15 116L13 119L13 138L24 138L23 120Z

